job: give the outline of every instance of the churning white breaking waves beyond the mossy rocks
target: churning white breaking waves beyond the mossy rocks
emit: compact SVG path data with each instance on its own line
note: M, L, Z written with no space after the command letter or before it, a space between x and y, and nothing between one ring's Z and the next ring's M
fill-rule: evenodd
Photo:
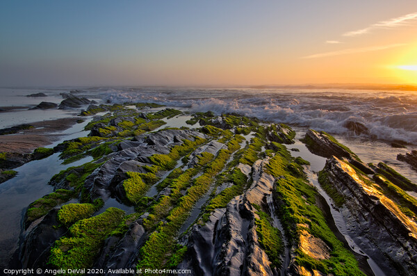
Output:
M417 145L417 96L407 92L240 88L119 88L99 92L101 99L113 103L156 102L218 115L238 113L348 136L358 134L345 127L347 122L359 122L373 138Z

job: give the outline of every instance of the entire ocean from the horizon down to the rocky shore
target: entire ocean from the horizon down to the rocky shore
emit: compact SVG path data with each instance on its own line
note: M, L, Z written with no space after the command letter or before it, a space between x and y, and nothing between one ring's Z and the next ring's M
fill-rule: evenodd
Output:
M396 160L397 154L417 149L417 92L398 90L346 90L300 88L199 87L60 87L0 88L2 106L17 106L0 113L0 128L39 120L71 117L73 110L28 110L40 102L59 103L61 93L99 104L154 102L190 112L237 113L260 120L285 123L302 135L307 129L327 131L351 147L363 161L392 165L417 183L416 172ZM47 97L26 97L43 92ZM356 129L352 125L359 126ZM356 131L355 131L356 130ZM402 143L407 149L391 147Z

